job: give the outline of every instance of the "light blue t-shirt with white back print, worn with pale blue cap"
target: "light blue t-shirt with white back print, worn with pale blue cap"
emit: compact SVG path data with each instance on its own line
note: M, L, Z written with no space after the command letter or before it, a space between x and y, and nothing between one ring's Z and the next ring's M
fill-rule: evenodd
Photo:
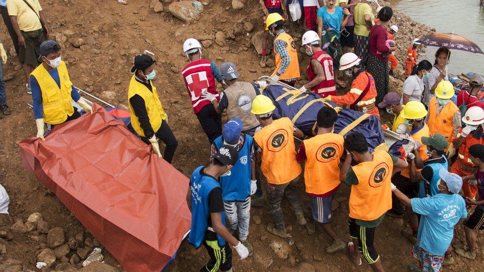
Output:
M412 210L422 215L417 240L432 255L444 255L454 237L454 226L467 217L466 203L457 194L412 198Z

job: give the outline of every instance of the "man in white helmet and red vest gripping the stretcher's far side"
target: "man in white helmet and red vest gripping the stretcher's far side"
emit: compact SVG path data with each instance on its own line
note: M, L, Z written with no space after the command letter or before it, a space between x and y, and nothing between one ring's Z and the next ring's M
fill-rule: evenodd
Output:
M309 82L303 85L302 92L311 90L322 98L336 95L334 82L333 58L321 49L320 39L315 31L307 31L303 35L303 48L310 55L310 63L306 73Z

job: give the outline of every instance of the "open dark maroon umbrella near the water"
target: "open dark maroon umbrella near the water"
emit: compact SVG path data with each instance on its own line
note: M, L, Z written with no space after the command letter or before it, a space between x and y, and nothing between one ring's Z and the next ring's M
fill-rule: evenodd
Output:
M426 46L445 47L447 49L462 50L484 54L473 41L454 33L433 33L417 40Z

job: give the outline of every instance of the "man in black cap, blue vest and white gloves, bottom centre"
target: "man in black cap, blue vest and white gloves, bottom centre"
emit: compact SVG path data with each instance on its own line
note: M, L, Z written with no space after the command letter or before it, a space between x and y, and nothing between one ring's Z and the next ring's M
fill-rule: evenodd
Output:
M248 249L225 227L224 200L218 179L230 173L239 160L237 150L228 145L217 150L214 160L207 167L198 166L190 178L186 192L186 204L191 212L191 228L188 242L207 249L210 260L200 270L232 271L231 244L241 260L249 255Z

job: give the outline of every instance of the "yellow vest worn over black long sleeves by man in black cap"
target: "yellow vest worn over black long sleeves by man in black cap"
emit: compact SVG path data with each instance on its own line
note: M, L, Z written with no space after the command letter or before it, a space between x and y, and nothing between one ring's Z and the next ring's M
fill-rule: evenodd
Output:
M151 83L151 88L153 92L150 92L146 86L136 81L135 76L131 77L131 81L129 82L129 89L128 89L128 105L129 111L131 112L131 125L133 126L134 131L136 131L140 136L145 137L144 131L141 128L139 123L138 116L134 114L134 109L129 102L129 99L134 95L139 95L143 100L146 107L146 112L148 113L148 118L150 119L150 124L153 130L158 131L161 127L161 122L163 118L165 118L165 110L161 105L160 98L158 97L158 93L156 92L155 86Z

